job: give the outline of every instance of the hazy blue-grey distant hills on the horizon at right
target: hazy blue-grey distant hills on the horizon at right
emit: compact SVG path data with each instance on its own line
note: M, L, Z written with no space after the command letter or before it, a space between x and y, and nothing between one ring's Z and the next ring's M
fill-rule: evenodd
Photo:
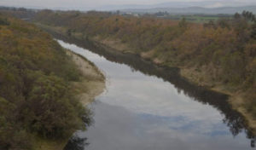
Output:
M188 8L154 8L154 9L122 9L124 13L157 13L166 11L170 14L235 14L241 13L243 10L251 11L256 14L256 6L243 7L221 7L221 8L202 8L202 7L188 7Z

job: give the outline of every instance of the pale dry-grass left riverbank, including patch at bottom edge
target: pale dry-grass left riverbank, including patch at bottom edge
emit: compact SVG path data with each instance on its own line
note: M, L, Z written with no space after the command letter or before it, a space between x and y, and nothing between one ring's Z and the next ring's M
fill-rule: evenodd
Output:
M73 82L73 92L77 94L79 101L84 107L87 107L94 101L97 95L100 95L105 89L105 78L102 72L90 61L81 55L77 55L67 49L67 55L79 67L82 72L82 79L79 82ZM71 136L71 135L70 135ZM52 141L36 137L35 150L63 150L69 139L64 138L60 141Z

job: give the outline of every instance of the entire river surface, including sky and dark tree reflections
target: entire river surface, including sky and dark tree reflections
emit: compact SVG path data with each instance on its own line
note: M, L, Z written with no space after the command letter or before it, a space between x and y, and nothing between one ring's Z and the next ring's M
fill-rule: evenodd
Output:
M58 42L107 78L105 91L90 105L94 123L77 131L67 150L254 149L253 136L227 95L189 84L176 69Z

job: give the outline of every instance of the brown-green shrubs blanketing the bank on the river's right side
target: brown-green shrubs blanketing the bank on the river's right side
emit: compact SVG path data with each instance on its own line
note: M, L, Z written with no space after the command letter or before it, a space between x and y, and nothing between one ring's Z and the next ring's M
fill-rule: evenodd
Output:
M39 12L34 20L67 36L92 39L161 65L195 72L197 84L223 85L228 92L242 93L243 107L256 117L256 23L250 12L205 24L50 10Z

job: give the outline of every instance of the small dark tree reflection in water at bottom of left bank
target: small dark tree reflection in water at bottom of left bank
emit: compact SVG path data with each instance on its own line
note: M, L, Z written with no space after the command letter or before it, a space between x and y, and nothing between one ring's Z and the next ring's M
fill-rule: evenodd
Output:
M84 150L84 147L89 145L86 141L86 137L73 136L69 139L63 150Z

